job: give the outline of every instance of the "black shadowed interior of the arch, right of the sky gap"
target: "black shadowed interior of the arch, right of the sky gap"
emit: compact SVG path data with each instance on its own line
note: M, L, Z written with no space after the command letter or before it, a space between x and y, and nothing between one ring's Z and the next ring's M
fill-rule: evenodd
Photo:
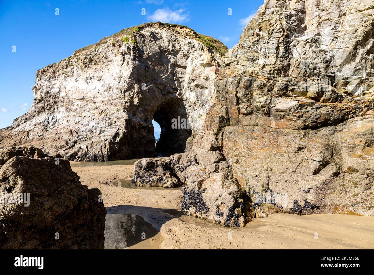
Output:
M160 104L153 114L153 120L159 123L161 128L160 138L156 142L156 153L170 156L185 152L191 137L191 128L187 123L186 107L181 98L169 98Z

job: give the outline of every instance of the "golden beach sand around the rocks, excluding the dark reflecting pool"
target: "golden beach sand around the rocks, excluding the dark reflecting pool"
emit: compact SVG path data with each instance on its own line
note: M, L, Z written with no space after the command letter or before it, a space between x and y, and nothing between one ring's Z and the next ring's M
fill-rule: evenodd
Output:
M134 189L109 185L116 179L130 179L134 173L132 164L73 165L72 169L81 177L82 184L101 190L108 215L140 216L159 230L156 235L151 233L149 238L139 240L127 249L374 248L374 217L278 213L254 219L244 228L226 228L194 217L180 216L181 189Z

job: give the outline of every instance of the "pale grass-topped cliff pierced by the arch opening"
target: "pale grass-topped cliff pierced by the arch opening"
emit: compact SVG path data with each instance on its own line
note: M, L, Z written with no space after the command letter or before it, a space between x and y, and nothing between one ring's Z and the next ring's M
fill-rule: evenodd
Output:
M223 61L217 51L225 48L171 24L105 37L37 71L34 103L0 132L1 147L33 144L76 161L155 156L154 118L170 137L160 151L183 152L211 106ZM171 129L164 121L178 116L189 118L191 128Z

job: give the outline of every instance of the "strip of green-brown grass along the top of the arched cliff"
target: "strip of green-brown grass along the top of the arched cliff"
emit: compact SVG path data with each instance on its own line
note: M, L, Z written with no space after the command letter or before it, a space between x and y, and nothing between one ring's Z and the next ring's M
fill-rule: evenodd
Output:
M149 22L149 23L141 24L135 27L123 29L119 31L118 33L115 33L111 36L106 36L103 39L101 39L98 43L88 45L84 48L76 50L73 55L80 54L92 48L97 49L98 46L100 46L101 44L107 43L110 40L114 40L118 38L123 40L123 42L129 42L129 37L132 36L132 34L141 31L141 29L144 27L151 27L151 26L160 27L160 28L170 27L172 28L173 31L177 33L183 34L188 38L192 38L203 43L203 45L205 45L206 48L218 52L218 54L220 54L221 56L224 56L226 52L229 50L226 47L226 45L224 45L220 40L215 39L211 36L206 36L206 35L196 33L196 31L192 30L191 28L188 28L187 26L178 25L178 24L162 23L162 22L156 22L156 23ZM187 31L183 31L183 33L181 33L181 30L183 30L184 28L186 28ZM136 44L136 41L134 39L132 39L131 42Z

